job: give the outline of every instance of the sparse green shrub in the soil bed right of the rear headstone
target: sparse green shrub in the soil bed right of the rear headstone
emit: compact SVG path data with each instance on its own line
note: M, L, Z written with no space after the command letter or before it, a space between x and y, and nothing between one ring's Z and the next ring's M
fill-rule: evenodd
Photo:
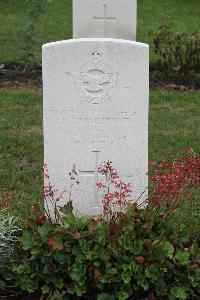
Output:
M199 87L200 32L172 33L169 26L161 25L153 34L154 51L165 79Z

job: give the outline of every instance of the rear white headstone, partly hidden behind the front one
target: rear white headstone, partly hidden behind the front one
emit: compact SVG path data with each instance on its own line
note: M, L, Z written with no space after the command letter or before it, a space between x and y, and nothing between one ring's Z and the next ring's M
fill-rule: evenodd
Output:
M74 38L136 40L137 0L73 0Z

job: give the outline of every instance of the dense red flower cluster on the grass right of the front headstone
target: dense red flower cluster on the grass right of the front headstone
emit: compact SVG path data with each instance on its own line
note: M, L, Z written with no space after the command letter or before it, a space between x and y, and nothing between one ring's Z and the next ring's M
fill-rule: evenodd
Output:
M195 156L192 152L185 157L175 158L172 162L164 158L159 163L152 162L149 165L153 168L150 201L154 204L173 205L183 198L187 187L200 182L200 156ZM189 193L184 196L189 196Z

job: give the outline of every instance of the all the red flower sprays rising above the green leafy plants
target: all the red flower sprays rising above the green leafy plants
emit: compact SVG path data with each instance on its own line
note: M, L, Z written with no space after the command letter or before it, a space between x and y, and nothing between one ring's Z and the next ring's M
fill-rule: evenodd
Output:
M151 189L149 198L145 200L148 203L146 210L162 209L165 211L164 217L170 216L180 207L180 202L189 199L193 189L198 188L200 181L200 156L195 155L192 150L187 155L175 158L170 161L163 158L159 162L150 162L151 169L150 184ZM51 186L47 164L43 167L43 176L46 184L42 186L45 198L45 216L53 220L56 224L62 223L62 213L59 202L63 195L57 195L55 187ZM130 183L121 180L117 170L113 167L112 161L102 162L98 167L101 175L101 182L96 184L97 189L102 195L102 215L107 221L110 220L117 212L124 211L124 208L135 203L139 207L144 203L137 204L138 199L133 199L133 189ZM66 206L70 212L73 211L72 189L77 180L78 172L75 165L69 173L71 186L69 198L66 200ZM9 199L9 197L8 197ZM38 203L32 206L32 211L38 211ZM53 208L53 209L52 209ZM52 214L53 211L53 214Z

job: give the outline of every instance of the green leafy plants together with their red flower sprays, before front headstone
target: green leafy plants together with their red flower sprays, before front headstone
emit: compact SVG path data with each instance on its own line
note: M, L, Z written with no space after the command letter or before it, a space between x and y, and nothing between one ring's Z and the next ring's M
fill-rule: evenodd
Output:
M53 188L45 186L55 214L32 207L14 267L17 285L43 299L199 299L200 247L169 221L199 183L200 158L190 153L151 166L145 209L133 203L130 185L110 161L99 167L105 176L97 183L104 191L101 216L77 218L71 199L60 209ZM49 179L46 166L44 175ZM78 183L75 176L73 169L71 180Z

